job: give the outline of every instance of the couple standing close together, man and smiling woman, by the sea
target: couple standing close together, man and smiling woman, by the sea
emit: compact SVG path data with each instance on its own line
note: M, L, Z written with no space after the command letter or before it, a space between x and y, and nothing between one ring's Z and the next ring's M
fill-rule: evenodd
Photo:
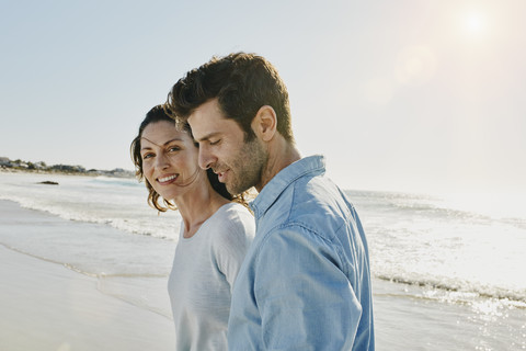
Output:
M358 215L323 158L300 156L265 58L237 53L187 72L132 154L149 203L183 218L169 279L178 350L375 349Z

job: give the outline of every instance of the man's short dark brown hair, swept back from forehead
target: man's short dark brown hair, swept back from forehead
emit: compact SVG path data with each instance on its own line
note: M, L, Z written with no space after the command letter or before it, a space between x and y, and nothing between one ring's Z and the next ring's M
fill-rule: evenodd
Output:
M260 107L272 106L277 115L277 132L294 143L287 88L264 57L245 53L214 56L173 86L167 104L176 118L185 121L211 99L218 100L227 118L240 125L245 140L255 136L251 123Z

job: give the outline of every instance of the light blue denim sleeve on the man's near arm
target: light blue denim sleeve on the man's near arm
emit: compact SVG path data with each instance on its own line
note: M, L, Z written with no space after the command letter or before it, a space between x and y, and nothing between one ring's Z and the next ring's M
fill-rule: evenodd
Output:
M266 350L351 350L362 306L331 244L301 227L271 233L255 298Z

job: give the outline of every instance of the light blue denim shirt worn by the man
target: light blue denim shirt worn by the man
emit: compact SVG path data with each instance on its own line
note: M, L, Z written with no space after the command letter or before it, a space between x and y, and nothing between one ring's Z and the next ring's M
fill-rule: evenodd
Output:
M322 156L276 174L251 203L256 234L239 271L229 350L374 350L367 242Z

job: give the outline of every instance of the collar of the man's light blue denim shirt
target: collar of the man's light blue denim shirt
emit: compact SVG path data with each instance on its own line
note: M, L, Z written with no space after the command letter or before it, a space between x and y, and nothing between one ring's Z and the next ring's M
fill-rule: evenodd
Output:
M290 183L308 173L321 174L324 171L325 158L321 155L305 157L282 169L250 203L255 218L264 215Z

